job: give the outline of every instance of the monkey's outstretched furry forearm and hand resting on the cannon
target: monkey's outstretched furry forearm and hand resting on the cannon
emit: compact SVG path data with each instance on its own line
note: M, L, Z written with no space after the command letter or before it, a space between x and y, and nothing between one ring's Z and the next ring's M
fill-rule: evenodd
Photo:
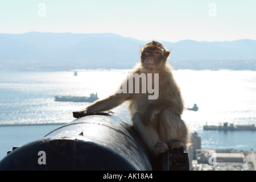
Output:
M124 101L131 99L132 96L133 96L132 94L115 93L103 100L94 102L92 105L89 105L85 109L82 109L80 111L74 111L73 117L81 118L88 114L113 109L114 107L122 104Z

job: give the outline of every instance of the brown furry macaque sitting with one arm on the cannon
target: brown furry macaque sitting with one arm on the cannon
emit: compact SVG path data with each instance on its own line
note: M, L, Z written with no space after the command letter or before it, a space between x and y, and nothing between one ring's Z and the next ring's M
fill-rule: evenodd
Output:
M80 118L88 114L108 111L129 100L133 126L152 155L158 156L168 149L175 150L181 147L187 150L189 131L188 126L181 119L184 109L183 98L172 75L172 67L167 63L171 51L155 41L141 47L140 51L141 61L131 74L138 73L142 82L127 77L121 85L122 92L115 92L103 100L95 101L83 110L73 112L73 117ZM143 80L143 77L146 77L146 80ZM149 98L152 92L148 90L142 92L145 82L151 83L155 92L158 92L154 98ZM127 88L124 88L127 83ZM135 91L138 84L141 92Z

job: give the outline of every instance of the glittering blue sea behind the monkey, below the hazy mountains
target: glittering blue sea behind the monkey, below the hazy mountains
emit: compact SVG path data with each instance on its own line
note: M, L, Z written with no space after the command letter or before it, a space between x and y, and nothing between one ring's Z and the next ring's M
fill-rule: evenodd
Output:
M72 112L88 102L57 102L55 96L100 99L114 93L130 70L97 69L56 72L0 71L0 160L13 146L43 138L73 121ZM256 125L256 71L175 70L185 107L182 119L201 137L202 149L256 150L256 131L205 131L204 125L224 122ZM127 102L113 109L130 122Z

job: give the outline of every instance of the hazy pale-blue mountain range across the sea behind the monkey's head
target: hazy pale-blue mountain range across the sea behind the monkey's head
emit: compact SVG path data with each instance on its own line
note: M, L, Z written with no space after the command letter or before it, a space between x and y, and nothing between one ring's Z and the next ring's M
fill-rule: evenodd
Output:
M115 34L0 34L0 70L131 69L146 43ZM161 43L175 69L256 70L256 40Z

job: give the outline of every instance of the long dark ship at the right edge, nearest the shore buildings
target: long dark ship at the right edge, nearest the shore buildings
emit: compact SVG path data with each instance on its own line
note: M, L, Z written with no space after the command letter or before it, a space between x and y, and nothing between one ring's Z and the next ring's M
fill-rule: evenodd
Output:
M223 125L214 126L214 125L205 125L203 127L204 130L220 130L220 131L256 131L255 125L236 125L228 123L223 123Z

